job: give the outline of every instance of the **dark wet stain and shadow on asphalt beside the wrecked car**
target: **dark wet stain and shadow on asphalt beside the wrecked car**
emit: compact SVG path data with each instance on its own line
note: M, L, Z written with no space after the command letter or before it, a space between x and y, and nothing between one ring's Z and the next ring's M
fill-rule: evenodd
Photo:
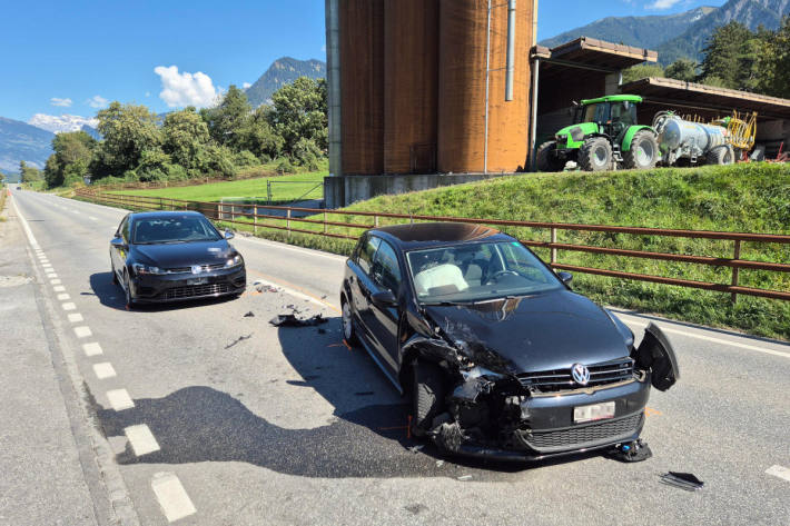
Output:
M320 326L323 333L316 327L278 329L285 357L304 379L287 384L315 389L332 404L335 419L329 425L284 428L227 393L206 386L179 389L164 398L136 399L134 408L122 411L95 405L106 436L124 436L126 427L146 424L160 446L159 451L142 457L127 446L118 463L245 462L306 477L472 475L480 482L521 479L529 476L527 467L585 457L533 464L448 458L432 444L408 438L406 399L364 350L349 350L338 341L339 327L339 318L332 318Z

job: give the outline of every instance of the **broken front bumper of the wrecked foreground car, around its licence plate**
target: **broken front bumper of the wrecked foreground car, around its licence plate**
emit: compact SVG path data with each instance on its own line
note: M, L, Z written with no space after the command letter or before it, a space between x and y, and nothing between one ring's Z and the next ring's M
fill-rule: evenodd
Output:
M464 428L464 411L458 409L454 421L444 423L432 433L444 450L460 455L506 460L537 460L609 448L639 438L644 426L644 407L650 396L650 375L593 389L537 394L524 397L520 419L501 426L497 436L485 439L480 433ZM481 397L473 404L492 404L501 398ZM574 423L573 409L579 406L614 401L613 418ZM467 405L468 401L463 404ZM488 414L500 413L490 407Z

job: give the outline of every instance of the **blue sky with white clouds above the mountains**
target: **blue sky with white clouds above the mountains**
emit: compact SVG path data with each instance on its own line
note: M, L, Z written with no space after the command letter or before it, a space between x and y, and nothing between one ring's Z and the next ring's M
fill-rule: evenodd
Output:
M541 0L539 36L606 16L722 3ZM324 0L3 2L0 116L91 117L110 100L157 112L200 105L231 83L254 82L279 57L323 60L324 42Z

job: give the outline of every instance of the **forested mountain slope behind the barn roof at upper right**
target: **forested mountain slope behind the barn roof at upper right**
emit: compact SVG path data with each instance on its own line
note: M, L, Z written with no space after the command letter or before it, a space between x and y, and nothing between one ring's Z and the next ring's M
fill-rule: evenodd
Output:
M719 8L701 7L677 14L606 17L540 43L552 48L579 37L592 37L654 49L664 66L680 58L699 62L705 41L715 28L735 20L751 30L759 26L777 29L787 14L790 14L790 0L729 0Z

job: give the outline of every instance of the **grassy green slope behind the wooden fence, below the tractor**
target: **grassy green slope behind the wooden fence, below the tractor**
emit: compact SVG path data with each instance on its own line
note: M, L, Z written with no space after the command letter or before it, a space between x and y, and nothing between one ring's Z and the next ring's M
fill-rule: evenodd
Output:
M608 173L527 173L401 196L383 196L347 210L386 211L472 218L582 222L694 230L790 234L790 166L750 163L732 167L655 169ZM329 216L330 220L371 222L371 218ZM273 222L273 221L269 221ZM392 221L391 221L392 222ZM284 221L276 222L279 226ZM387 224L382 220L382 225ZM323 227L292 221L305 230ZM233 225L239 228L239 225ZM248 229L248 227L241 227ZM549 240L545 229L504 229L521 239ZM358 236L361 229L329 227ZM258 235L338 254L353 242L282 230ZM732 257L731 241L660 238L602 232L561 232L560 242L634 250ZM546 250L536 252L547 258ZM790 246L743 244L742 259L790 261ZM639 274L727 284L729 268L674 261L615 258L560 251L559 262ZM790 274L740 271L740 285L790 290ZM577 274L573 286L598 301L687 321L742 329L790 339L790 301L740 296L738 304L720 292Z

